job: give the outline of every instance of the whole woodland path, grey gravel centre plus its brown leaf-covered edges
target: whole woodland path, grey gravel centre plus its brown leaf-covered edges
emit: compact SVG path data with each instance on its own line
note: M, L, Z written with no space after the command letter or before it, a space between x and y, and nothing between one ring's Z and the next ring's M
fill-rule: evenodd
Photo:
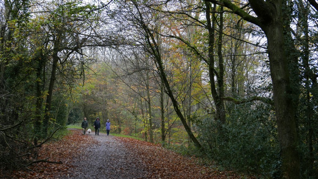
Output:
M254 179L232 171L218 171L204 165L194 156L182 156L160 145L107 136L104 133L72 134L45 144L39 159L61 161L62 164L40 162L32 171L14 171L6 175L17 179ZM4 175L0 178L7 178Z

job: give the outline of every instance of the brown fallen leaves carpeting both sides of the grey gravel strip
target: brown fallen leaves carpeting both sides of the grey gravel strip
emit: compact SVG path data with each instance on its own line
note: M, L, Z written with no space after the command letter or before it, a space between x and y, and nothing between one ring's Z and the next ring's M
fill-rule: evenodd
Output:
M101 137L104 136L102 135ZM218 171L209 166L197 164L197 159L195 157L185 157L180 154L176 154L161 147L160 145L131 138L114 137L114 139L125 146L126 150L122 150L122 152L126 151L128 156L134 156L132 158L135 158L135 161L130 162L137 162L136 160L138 160L139 163L144 164L139 165L139 169L147 171L146 178L243 178L231 171ZM71 165L71 163L78 160L78 156L82 153L81 150L83 147L92 144L100 145L100 143L91 136L82 135L79 130L73 130L70 135L65 136L62 140L45 144L40 150L38 160L49 158L47 160L61 161L62 164L47 162L35 163L30 167L32 171L14 171L12 174L3 173L0 174L0 178L39 179L67 176L67 171L78 170L78 168L75 168L75 166ZM105 154L105 156L106 155L107 154ZM116 159L114 159L114 162L116 162ZM246 176L244 178L246 178ZM252 179L252 177L250 178Z

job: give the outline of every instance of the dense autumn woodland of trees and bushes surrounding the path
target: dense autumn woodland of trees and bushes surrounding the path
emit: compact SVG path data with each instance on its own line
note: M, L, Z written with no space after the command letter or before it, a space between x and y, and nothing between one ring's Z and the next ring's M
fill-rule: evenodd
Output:
M99 117L223 168L317 178L315 0L0 7L0 169L28 168L66 125Z

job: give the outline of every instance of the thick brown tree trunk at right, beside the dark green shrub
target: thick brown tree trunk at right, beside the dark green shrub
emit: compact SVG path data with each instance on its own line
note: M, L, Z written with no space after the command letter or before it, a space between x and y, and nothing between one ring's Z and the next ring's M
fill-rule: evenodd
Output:
M276 4L281 7L281 1ZM297 151L297 132L292 89L285 54L281 8L273 15L273 21L262 29L268 42L268 57L273 82L274 106L277 118L278 137L281 146L283 178L298 179L300 159Z

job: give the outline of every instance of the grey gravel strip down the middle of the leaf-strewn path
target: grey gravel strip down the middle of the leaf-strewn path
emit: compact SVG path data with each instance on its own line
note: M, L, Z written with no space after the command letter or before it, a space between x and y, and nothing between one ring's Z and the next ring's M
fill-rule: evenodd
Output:
M146 166L138 156L131 155L121 140L111 134L100 133L95 135L92 131L89 140L96 140L83 148L83 152L73 158L74 166L67 175L59 176L61 179L78 178L105 178L105 179L143 179L147 178ZM92 142L96 143L96 142ZM80 156L85 156L80 158Z

